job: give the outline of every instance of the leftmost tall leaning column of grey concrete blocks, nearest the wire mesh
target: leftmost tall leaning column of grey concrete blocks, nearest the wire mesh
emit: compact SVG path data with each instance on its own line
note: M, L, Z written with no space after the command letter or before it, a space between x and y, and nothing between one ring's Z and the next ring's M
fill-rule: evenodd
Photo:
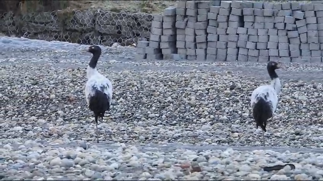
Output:
M151 22L151 33L149 45L146 47L146 58L148 60L161 60L161 36L162 36L162 15L154 15ZM138 45L137 45L138 47Z

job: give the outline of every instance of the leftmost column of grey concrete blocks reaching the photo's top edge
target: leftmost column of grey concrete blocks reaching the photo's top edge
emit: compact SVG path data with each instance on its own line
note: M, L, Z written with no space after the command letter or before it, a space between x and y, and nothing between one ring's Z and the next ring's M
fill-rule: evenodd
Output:
M176 6L176 48L177 53L182 56L183 59L187 58L185 48L185 28L187 24L186 18L186 1L177 1Z

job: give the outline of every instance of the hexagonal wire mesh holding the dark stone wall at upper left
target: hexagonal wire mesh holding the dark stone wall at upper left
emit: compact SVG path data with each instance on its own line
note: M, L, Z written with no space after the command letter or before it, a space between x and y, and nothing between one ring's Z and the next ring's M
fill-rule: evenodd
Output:
M63 11L0 17L0 31L29 39L65 41L87 45L128 46L150 38L152 14L109 11Z

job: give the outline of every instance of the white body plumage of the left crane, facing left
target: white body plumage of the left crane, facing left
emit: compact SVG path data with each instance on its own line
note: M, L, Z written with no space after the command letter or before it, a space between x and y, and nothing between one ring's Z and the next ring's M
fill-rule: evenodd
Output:
M105 78L101 75L96 68L88 67L87 69L87 77L88 81L85 85L85 97L86 102L89 102L92 96L95 95L96 90L100 90L101 92L105 93L108 97L109 104L111 104L112 100L112 83L109 79Z

